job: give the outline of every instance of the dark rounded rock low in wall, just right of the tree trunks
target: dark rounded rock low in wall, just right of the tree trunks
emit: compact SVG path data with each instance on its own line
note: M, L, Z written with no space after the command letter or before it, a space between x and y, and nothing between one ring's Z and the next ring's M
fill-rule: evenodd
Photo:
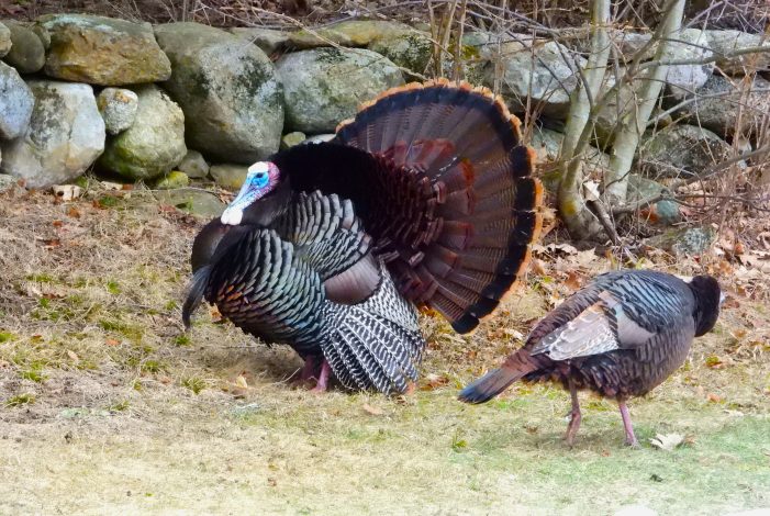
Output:
M729 156L730 146L711 131L669 125L639 146L636 166L652 179L691 177Z

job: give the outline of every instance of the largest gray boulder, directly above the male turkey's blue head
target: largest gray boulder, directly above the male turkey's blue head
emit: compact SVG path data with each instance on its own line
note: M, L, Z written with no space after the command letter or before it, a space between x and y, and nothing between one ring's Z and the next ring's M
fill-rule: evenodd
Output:
M244 164L278 150L283 90L264 52L198 23L159 25L155 34L171 59L165 86L187 115L191 147Z

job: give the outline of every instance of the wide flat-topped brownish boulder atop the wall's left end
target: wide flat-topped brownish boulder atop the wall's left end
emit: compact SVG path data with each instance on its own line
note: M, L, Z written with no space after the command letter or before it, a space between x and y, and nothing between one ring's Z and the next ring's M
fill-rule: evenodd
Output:
M51 34L45 72L102 86L166 80L171 67L149 23L87 14L49 14L38 23Z

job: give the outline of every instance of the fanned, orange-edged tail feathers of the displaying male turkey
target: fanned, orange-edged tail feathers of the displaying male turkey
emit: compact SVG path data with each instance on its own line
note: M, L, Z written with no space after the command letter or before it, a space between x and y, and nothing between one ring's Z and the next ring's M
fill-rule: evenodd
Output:
M484 88L412 83L365 105L335 142L411 172L392 181L395 216L376 236L392 243L389 268L405 296L472 330L525 270L542 225L518 119Z

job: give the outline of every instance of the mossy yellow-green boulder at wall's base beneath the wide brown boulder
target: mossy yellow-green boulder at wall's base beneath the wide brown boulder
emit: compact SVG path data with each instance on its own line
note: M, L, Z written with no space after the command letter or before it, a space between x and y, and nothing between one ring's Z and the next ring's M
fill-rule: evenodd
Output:
M187 154L185 114L157 86L136 87L136 119L107 144L99 164L133 181L171 171Z

